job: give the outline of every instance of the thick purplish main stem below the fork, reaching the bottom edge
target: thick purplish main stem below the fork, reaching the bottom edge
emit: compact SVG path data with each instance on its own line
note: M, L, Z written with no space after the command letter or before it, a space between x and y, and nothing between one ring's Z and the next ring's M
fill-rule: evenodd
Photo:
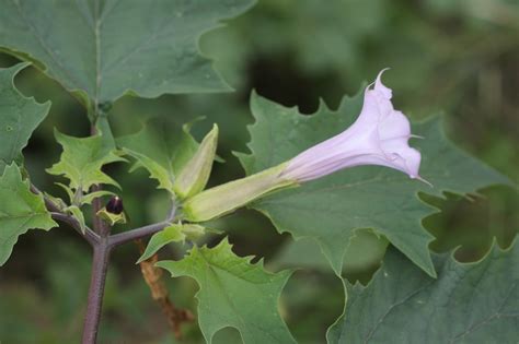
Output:
M108 259L111 247L107 238L101 238L93 246L94 254L92 260L92 274L90 278L89 299L86 316L83 327L83 344L95 344L101 320L101 309L103 305L104 285L108 271Z

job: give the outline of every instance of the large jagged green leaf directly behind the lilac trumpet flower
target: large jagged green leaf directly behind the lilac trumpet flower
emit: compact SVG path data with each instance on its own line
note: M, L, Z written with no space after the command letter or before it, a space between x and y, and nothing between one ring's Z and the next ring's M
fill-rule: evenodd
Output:
M349 127L361 105L359 94L344 98L336 111L321 104L313 116L302 116L296 108L253 94L251 107L256 122L250 127L252 154L239 154L240 161L247 175L286 162ZM314 239L337 275L354 230L373 228L434 276L427 248L432 236L422 226L422 220L434 210L417 193L469 193L507 183L508 179L454 147L437 118L414 126L413 133L425 138L412 145L422 151L420 175L434 188L390 168L362 166L277 192L252 207L268 216L280 233Z

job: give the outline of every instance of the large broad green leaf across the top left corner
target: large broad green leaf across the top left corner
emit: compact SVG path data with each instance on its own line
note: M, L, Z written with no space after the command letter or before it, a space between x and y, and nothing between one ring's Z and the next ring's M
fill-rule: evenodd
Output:
M199 36L253 0L5 1L0 47L95 107L126 93L229 90L200 56ZM68 27L69 29L64 29Z

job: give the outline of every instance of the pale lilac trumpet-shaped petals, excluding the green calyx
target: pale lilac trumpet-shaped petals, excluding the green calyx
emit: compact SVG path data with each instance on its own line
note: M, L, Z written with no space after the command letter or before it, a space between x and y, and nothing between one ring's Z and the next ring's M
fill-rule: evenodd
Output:
M281 177L297 181L316 179L343 168L381 165L418 175L420 153L410 147L408 119L391 103L392 92L380 78L365 91L360 116L342 133L321 142L288 162Z

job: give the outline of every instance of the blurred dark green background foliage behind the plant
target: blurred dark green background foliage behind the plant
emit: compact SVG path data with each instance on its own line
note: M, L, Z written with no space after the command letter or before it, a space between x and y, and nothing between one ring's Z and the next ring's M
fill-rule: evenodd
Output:
M201 50L215 59L234 93L125 97L112 109L115 134L134 132L150 117L182 123L205 116L194 129L198 139L212 122L221 129L218 153L227 162L215 166L210 182L217 185L243 176L232 151L246 151L252 88L311 114L320 98L334 108L344 94L355 94L364 82L390 67L384 83L394 90L399 109L416 120L445 112L447 132L455 143L519 182L516 0L261 0L249 13L206 34ZM0 55L0 67L13 63L15 59ZM38 102L53 102L50 115L24 153L34 182L62 195L55 180L43 173L60 153L53 129L86 135L84 110L35 69L24 70L16 84ZM165 193L155 189L143 170L128 174L127 168L112 166L108 173L124 188L130 225L162 220ZM461 246L460 260L481 258L493 237L508 246L519 229L517 190L492 187L471 198L420 197L442 210L424 221L438 238L431 249L441 252ZM289 281L280 306L299 342L323 343L327 325L342 312L344 295L319 250L304 241L293 245L253 211L239 211L214 226L228 232L239 254L265 257L272 270L304 268ZM362 230L351 247L345 275L367 283L385 241ZM161 252L161 257L175 254L181 252L174 246ZM113 253L100 343L175 343L134 264L137 258L131 244ZM73 230L62 226L22 236L0 270L2 344L79 342L89 278L90 248ZM168 278L168 284L178 306L196 309L197 286L192 280ZM185 343L201 343L196 323L185 325L184 333ZM234 330L221 331L216 340L240 342Z

